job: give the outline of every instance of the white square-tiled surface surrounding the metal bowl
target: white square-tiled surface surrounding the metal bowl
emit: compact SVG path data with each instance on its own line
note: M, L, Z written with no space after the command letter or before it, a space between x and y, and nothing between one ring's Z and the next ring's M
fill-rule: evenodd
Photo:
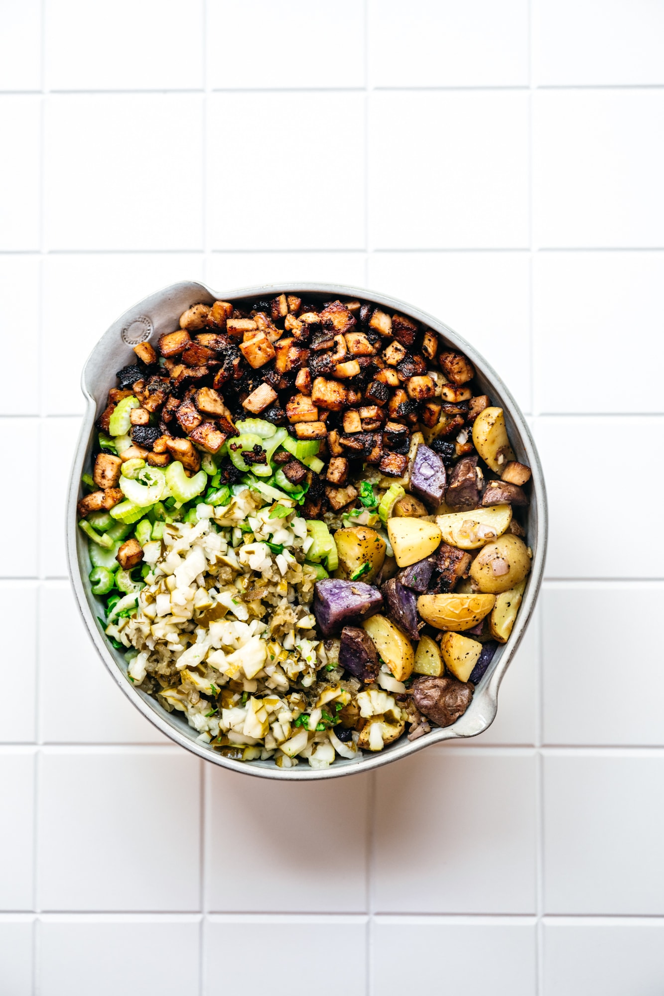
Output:
M0 4L2 996L659 996L663 41L655 0ZM178 279L386 290L503 374L551 528L481 738L272 786L114 686L79 376Z

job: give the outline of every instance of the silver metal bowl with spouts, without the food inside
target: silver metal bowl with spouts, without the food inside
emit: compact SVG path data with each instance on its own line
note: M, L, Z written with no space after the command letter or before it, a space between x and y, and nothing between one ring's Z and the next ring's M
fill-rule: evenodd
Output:
M528 545L532 548L533 556L525 594L511 635L505 644L498 647L489 669L475 691L468 710L454 726L448 726L445 729L435 727L431 733L425 734L412 743L404 737L379 753L362 754L353 761L338 759L323 771L315 771L307 764L282 770L277 768L271 760L247 763L231 761L222 757L213 748L196 739L196 731L188 726L180 713L166 712L157 699L143 692L140 687L135 687L127 677L125 658L121 652L113 649L97 620L98 616L103 615L103 604L90 590L88 575L91 566L87 540L81 530L77 528L76 504L81 497L81 475L91 470L95 420L106 405L109 389L116 386L116 371L135 359L132 346L146 340L156 343L164 333L171 332L178 327L179 316L196 302L265 299L275 297L283 292L300 294L307 300L313 301L360 298L381 305L392 312L398 311L408 315L436 331L447 344L465 353L472 360L482 390L489 394L493 404L500 405L504 410L509 440L517 459L532 468L531 499L526 511L526 537ZM130 308L122 318L111 326L102 336L86 363L82 376L82 388L86 397L86 412L74 457L67 503L67 555L74 591L90 637L112 677L136 708L167 737L206 761L241 772L244 775L277 778L285 781L305 781L340 778L343 775L350 775L358 771L369 771L413 754L430 744L460 737L477 736L491 725L498 709L498 687L502 675L523 636L541 582L546 553L546 494L539 457L518 405L498 373L489 366L484 357L470 343L467 343L456 332L426 312L396 298L374 292L368 293L358 287L311 283L268 284L213 294L202 284L185 282L173 284L166 290L146 298L134 308Z

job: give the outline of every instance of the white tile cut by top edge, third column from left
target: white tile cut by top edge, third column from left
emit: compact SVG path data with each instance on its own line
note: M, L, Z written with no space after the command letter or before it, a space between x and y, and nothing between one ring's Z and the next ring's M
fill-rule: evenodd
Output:
M210 0L205 35L215 90L364 87L364 8L355 0Z

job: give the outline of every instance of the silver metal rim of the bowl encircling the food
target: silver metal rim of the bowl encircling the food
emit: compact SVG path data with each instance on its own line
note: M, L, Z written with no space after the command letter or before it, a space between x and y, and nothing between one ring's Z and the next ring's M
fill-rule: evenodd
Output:
M294 288L297 289L296 292L293 290ZM112 650L112 647L108 643L101 626L97 622L95 611L89 601L87 589L90 586L88 583L86 587L87 579L84 580L84 572L82 571L82 565L79 560L81 552L84 549L84 544L81 530L77 528L76 516L76 506L80 497L81 475L83 473L83 467L87 458L92 433L94 431L95 420L97 417L97 409L99 406L99 402L93 393L94 388L91 380L96 373L96 361L100 354L109 353L109 351L113 348L114 343L121 338L123 331L127 330L127 328L133 323L137 321L146 322L146 318L148 318L150 320L147 325L148 328L152 323L151 312L154 313L156 308L167 305L169 301L174 302L177 300L179 302L179 299L182 297L188 298L189 304L184 305L184 308L182 309L184 310L186 307L190 307L190 305L195 304L198 301L233 301L245 298L275 297L283 293L292 294L299 292L323 294L331 297L345 297L350 299L360 298L384 308L402 312L416 321L421 322L423 325L428 326L430 329L433 329L436 333L443 336L455 348L466 354L466 356L468 356L473 362L476 370L480 372L488 381L490 387L494 391L494 394L498 395L500 399L500 406L504 410L505 420L507 423L512 423L517 430L519 441L524 450L525 457L527 458L526 462L532 471L530 507L531 510L534 510L535 512L535 528L533 535L529 538L532 548L531 569L528 575L528 583L526 585L523 601L516 617L516 622L514 623L507 642L498 645L498 659L495 659L492 665L490 665L487 675L483 678L483 682L476 688L472 705L464 716L462 716L453 726L444 728L434 727L431 733L428 733L415 741L409 741L406 738L402 738L400 741L396 742L394 746L390 746L385 751L380 751L376 754L362 754L357 760L354 761L337 760L334 764L330 765L329 768L323 770L313 769L309 765L298 765L294 768L281 769L277 768L274 764L269 766L269 762L247 763L223 757L221 754L210 749L207 744L199 742L195 739L195 737L181 732L178 724L175 725L169 721L167 718L168 713L166 713L166 710L162 709L156 699L149 696L146 692L141 692L140 689L136 688L132 684L123 670L118 651ZM181 304L181 302L179 303ZM151 338L154 338L154 336ZM124 345L126 345L126 343L127 340L125 340ZM131 347L127 346L127 349L131 349ZM86 409L82 419L77 447L74 454L67 500L66 550L69 575L74 589L74 594L76 596L79 614L82 621L85 623L95 648L97 649L97 652L99 653L99 656L104 662L107 670L115 680L116 684L122 688L123 692L127 695L133 705L147 719L149 719L154 726L165 734L166 737L177 743L179 746L184 747L186 750L191 751L202 760L208 761L212 764L217 764L220 767L226 768L230 771L258 778L272 778L280 781L303 782L318 781L324 778L342 778L346 775L374 771L385 764L391 764L393 761L398 761L402 757L410 756L433 744L440 744L446 740L467 739L469 737L477 736L478 734L483 733L493 723L498 711L498 688L500 686L500 682L511 659L513 658L516 649L518 648L528 622L530 621L543 577L548 519L546 490L537 449L529 426L518 404L498 373L496 373L493 367L485 360L482 354L479 353L471 343L467 342L462 336L460 336L459 333L455 332L440 319L430 315L428 312L425 312L420 308L417 308L398 298L392 297L391 295L381 294L380 292L369 290L367 288L336 283L327 284L311 281L290 280L270 284L257 284L251 287L224 291L222 294L217 294L199 281L182 281L177 284L171 284L162 291L158 291L150 297L145 298L134 307L128 309L128 311L126 311L109 327L106 333L104 333L104 335L99 339L86 361L81 376L81 388L86 399ZM116 654L118 654L118 656L116 656ZM466 722L464 722L464 720L466 720ZM187 729L189 728L187 727ZM195 733L194 730L191 732Z

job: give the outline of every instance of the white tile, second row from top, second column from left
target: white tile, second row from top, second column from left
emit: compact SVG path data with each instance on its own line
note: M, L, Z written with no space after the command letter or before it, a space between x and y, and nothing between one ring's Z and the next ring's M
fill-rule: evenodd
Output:
M47 247L200 249L202 98L49 97Z

